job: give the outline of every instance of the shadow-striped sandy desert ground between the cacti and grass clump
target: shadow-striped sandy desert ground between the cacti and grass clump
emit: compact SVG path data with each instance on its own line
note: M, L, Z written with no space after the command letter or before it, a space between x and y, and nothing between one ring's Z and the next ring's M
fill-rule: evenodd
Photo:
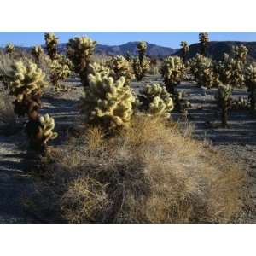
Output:
M160 82L160 77L148 76L143 82L132 82L132 87L139 90L143 84ZM47 91L43 97L41 113L50 113L55 118L59 137L52 144L61 145L67 131L79 122L77 109L83 90L79 81L67 81L76 88L66 93L54 94ZM205 90L197 84L183 82L178 90L184 90L192 103L184 122L180 113L172 113L172 119L193 126L193 136L206 140L211 147L223 150L234 160L240 162L249 174L248 187L256 205L256 116L248 110L230 111L230 128L209 128L206 122L218 124L219 113L214 102L214 90ZM0 92L1 93L1 92ZM247 96L245 89L234 90L233 95ZM21 124L22 125L22 124ZM11 136L4 136L0 131L0 223L40 223L41 219L26 212L22 201L33 191L32 177L22 168L20 160L26 153L26 135L23 131ZM256 223L256 215L251 212L246 222Z

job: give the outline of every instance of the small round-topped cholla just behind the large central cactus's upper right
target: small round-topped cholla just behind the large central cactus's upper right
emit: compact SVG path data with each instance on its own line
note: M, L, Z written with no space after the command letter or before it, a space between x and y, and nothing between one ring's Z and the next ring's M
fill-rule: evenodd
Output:
M129 85L131 81L131 67L125 57L117 55L112 58L109 63L111 69L110 75L113 79L117 80L120 77L125 77L125 85Z

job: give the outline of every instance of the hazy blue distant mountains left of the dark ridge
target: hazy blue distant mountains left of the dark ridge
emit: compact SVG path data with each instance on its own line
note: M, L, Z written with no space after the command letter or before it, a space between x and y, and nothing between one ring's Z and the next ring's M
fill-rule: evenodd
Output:
M166 56L174 54L177 49L147 43L147 55ZM59 51L64 53L66 44L59 44ZM128 42L121 45L96 44L96 54L103 55L124 55L127 51L131 55L137 55L137 42Z

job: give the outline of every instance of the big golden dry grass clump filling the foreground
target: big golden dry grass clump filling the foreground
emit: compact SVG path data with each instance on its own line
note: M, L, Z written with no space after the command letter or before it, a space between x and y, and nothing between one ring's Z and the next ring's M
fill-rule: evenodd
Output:
M108 138L91 127L54 155L43 185L55 201L45 208L62 221L226 223L243 207L239 167L162 119L135 117Z

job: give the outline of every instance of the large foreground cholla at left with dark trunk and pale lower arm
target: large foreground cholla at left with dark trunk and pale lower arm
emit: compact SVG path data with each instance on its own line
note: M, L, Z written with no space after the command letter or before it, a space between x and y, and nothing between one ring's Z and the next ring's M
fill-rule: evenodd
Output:
M33 149L43 153L49 138L56 137L56 134L49 132L49 125L41 123L38 110L41 108L42 90L47 85L44 80L45 74L38 68L37 64L29 61L15 62L12 71L9 73L9 92L15 96L15 113L18 116L28 116L26 123L26 135L29 138ZM42 119L43 120L43 119ZM45 122L52 119L46 118ZM50 126L50 131L54 127Z

